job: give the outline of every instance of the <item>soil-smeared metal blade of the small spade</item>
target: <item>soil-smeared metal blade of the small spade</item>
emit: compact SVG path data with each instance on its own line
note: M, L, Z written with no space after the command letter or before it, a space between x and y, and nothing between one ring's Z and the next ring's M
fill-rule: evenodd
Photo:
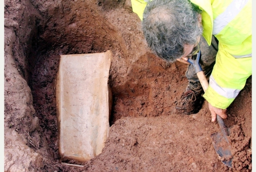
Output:
M232 154L231 154L231 147L230 144L223 144L227 143L225 138L223 137L222 133L213 133L210 135L214 149L216 153L220 156L220 161L223 162L226 166L232 168ZM228 145L228 146L224 146Z

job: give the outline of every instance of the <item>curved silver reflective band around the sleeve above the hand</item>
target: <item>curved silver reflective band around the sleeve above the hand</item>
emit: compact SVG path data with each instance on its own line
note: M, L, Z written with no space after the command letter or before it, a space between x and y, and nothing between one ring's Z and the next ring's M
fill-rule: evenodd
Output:
M218 94L226 98L236 98L236 96L241 91L241 90L232 89L232 88L220 87L220 85L217 84L217 82L215 81L212 75L210 76L209 84L214 89L214 91L216 91Z

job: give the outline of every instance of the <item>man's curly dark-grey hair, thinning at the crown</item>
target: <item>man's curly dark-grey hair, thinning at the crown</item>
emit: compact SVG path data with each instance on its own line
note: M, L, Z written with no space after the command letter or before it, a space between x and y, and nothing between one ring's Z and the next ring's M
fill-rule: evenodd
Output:
M184 54L184 44L195 44L203 29L198 26L198 7L189 0L151 0L142 20L149 48L167 62Z

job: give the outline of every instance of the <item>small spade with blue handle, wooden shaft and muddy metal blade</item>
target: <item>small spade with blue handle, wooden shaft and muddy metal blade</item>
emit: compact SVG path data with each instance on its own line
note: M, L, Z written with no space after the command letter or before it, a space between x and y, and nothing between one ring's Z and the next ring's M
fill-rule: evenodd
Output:
M197 53L197 55L195 55L195 56L196 56L195 60L188 58L188 62L194 66L195 71L197 73L197 77L203 87L203 91L205 92L207 90L209 84L208 84L207 78L205 77L203 70L199 64L201 52L199 51ZM226 166L229 166L232 168L233 157L231 154L231 146L227 139L227 136L229 136L230 128L227 128L225 126L223 119L219 115L217 115L217 121L220 126L220 132L213 133L210 135L210 137L212 139L214 149L215 149L216 153L218 154L221 162L223 162Z

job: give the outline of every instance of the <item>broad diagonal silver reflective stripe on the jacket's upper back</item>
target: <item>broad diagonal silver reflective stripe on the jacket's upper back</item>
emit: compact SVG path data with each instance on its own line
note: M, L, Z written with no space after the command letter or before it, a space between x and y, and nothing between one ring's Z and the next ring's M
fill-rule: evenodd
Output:
M213 35L217 35L238 13L243 9L248 0L233 0L226 10L213 21Z

